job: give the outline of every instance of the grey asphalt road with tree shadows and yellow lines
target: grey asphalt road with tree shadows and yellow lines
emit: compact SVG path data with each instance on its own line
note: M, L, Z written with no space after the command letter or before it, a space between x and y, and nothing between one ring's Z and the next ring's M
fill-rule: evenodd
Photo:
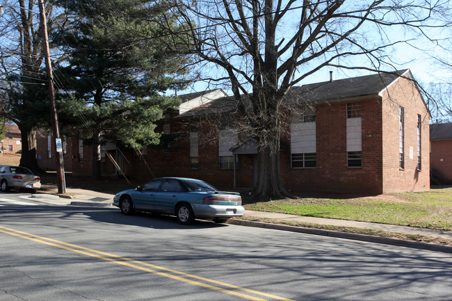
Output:
M452 300L452 256L0 193L0 300Z

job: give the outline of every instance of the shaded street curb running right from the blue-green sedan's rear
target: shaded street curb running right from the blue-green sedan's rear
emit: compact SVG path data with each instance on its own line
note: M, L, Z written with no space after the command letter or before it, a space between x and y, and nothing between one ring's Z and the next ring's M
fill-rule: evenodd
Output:
M354 241L366 241L368 243L381 243L384 245L398 245L401 247L412 247L412 248L421 249L421 250L452 253L452 247L449 247L448 245L433 245L431 243L422 243L419 241L405 241L403 239L397 239L397 238L387 238L387 237L369 236L369 235L364 235L364 234L354 234L354 233L339 232L339 231L295 227L295 226L289 226L289 225L271 224L268 222L253 222L250 220L229 219L227 221L227 223L232 224L232 225L258 227L258 228L266 228L266 229L274 229L274 230L282 230L282 231L291 231L291 232L298 232L298 233L304 233L304 234L314 234L314 235L320 235L320 236L344 238L344 239L350 239L350 240L354 240Z

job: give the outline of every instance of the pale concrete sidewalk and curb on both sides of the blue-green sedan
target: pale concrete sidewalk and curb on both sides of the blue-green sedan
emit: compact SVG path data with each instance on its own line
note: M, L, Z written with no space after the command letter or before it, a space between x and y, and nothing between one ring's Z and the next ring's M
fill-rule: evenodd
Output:
M40 193L47 193L47 191L56 191L56 187L44 186ZM52 193L54 194L54 193ZM58 195L58 194L57 194ZM84 190L79 188L66 188L66 195L58 195L59 197L65 197L72 199L70 204L74 206L102 206L111 207L113 206L113 197L115 195L108 193L97 193L92 190ZM434 238L442 238L452 241L452 231L442 231L434 229L423 229L417 227L404 227L397 225L387 225L378 224L374 222L356 222L353 220L334 220L331 218L314 218L310 216L300 216L300 215L290 215L283 213L271 213L262 211L245 211L246 216L256 217L256 218L268 218L271 220L285 220L285 221L295 221L303 222L316 225L331 225L337 227L350 227L359 229L373 229L385 232L394 232L399 234L412 234L419 236L430 236ZM439 252L452 253L452 247L445 245L434 245L430 243L421 243L417 241L403 241L394 238L385 238L378 236L367 236L363 234L352 234L341 231L329 231L322 229L313 229L305 227L294 227L289 225L281 225L278 223L271 222L252 222L249 220L231 219L228 221L229 224L233 225L243 225L248 227L264 227L269 229L278 229L283 231L296 231L307 234L316 234L323 236L332 236L339 238L354 239L358 241L371 241L374 243L385 243L390 245L403 245L406 247L416 247L425 250L434 250Z

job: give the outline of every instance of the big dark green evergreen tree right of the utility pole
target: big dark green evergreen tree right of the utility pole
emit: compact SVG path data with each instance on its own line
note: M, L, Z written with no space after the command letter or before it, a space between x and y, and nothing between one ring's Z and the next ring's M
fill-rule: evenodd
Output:
M56 32L52 39L70 49L67 65L56 72L71 95L59 101L60 122L88 129L83 140L93 145L93 177L98 179L102 144L113 141L139 148L159 143L154 122L178 104L177 97L162 93L184 88L188 57L183 49L168 51L164 46L171 37L156 22L163 13L158 1L59 4L72 19L70 29Z

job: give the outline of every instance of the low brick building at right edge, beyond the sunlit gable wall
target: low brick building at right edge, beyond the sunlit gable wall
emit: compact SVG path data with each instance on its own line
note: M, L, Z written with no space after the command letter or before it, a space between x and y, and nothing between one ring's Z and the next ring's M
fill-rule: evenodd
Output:
M452 184L452 123L430 124L430 174L434 184Z

